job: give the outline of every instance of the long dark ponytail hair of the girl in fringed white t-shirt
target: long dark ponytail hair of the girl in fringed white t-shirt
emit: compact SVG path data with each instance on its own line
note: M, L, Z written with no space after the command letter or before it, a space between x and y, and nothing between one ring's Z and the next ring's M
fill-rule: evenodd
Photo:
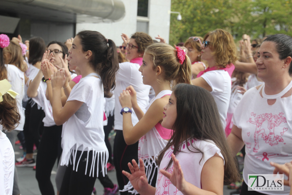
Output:
M90 63L101 77L105 97L111 97L110 91L116 86L115 76L119 70L116 45L97 31L84 30L77 36L80 38L83 51L92 52Z

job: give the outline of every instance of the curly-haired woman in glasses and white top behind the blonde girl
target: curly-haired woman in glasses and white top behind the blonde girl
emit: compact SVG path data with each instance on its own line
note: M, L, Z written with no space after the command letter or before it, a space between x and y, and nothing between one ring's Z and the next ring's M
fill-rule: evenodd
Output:
M142 111L149 103L150 86L143 84L141 73L143 54L147 46L152 44L152 38L143 32L132 34L131 39L122 34L124 43L127 45L126 58L130 62L119 63L119 70L116 74L116 88L114 89L115 110L114 110L114 128L117 132L114 139L114 165L116 167L117 181L119 189L124 189L128 183L128 178L122 174L122 170L129 170L128 162L135 159L138 162L138 141L135 144L127 145L123 136L123 116L121 115L122 106L119 102L120 93L130 85L137 91L137 102ZM138 118L135 112L132 113L132 122L135 125ZM128 192L121 192L121 195Z

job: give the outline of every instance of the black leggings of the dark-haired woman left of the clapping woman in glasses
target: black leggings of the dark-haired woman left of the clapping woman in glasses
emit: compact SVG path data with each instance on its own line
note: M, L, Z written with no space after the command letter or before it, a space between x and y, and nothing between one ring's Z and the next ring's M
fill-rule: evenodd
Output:
M33 153L34 144L39 147L40 134L44 129L44 123L42 122L45 117L45 113L42 109L38 109L38 105L34 103L31 99L25 107L25 124L23 127L23 133L25 136L26 153Z

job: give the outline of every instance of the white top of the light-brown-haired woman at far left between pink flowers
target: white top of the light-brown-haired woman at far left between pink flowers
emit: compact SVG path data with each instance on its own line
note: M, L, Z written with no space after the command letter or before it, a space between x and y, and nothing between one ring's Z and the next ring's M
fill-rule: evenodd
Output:
M15 99L17 101L17 108L20 114L20 121L15 130L23 131L23 126L25 122L24 108L22 107L22 99L25 96L24 73L19 70L19 68L17 68L15 65L6 64L5 66L7 68L7 80L12 86L11 89L19 94L15 96Z

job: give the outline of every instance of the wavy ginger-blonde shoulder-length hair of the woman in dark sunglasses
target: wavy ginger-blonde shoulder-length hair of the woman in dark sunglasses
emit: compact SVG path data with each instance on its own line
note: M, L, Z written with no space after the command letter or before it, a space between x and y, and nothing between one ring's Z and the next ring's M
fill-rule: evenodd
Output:
M232 35L222 29L216 29L214 31L208 32L204 41L210 38L211 50L213 51L214 60L216 65L220 68L225 68L226 65L234 63L237 60L237 50L233 40Z

